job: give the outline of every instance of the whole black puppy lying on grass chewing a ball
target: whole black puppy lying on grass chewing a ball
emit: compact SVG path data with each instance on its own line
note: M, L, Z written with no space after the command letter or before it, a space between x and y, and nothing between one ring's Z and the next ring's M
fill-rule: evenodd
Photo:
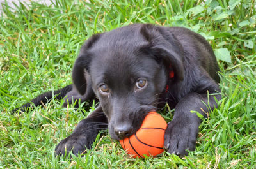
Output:
M133 24L93 35L74 64L74 84L54 94L56 99L66 96L69 103L97 98L99 107L57 145L56 154L90 149L99 131L107 127L113 139L128 137L150 110L166 103L175 114L166 129L164 149L188 154L186 150L195 150L202 121L191 110L207 117L221 98L216 94L220 92L217 71L211 46L189 29ZM52 92L46 92L31 102L37 106L51 98Z

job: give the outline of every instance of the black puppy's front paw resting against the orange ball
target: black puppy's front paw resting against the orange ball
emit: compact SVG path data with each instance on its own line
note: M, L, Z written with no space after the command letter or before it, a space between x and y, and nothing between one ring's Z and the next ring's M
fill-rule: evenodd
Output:
M198 122L172 121L164 134L164 149L180 157L188 155L189 151L195 151L196 137L198 135Z

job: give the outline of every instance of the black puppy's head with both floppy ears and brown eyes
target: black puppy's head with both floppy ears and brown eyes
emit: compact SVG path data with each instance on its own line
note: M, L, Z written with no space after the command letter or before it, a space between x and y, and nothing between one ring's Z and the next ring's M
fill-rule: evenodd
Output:
M108 117L111 137L123 139L135 133L145 115L156 108L170 64L173 82L182 80L183 50L175 36L165 27L134 24L87 40L72 78L81 94L88 91L90 80Z

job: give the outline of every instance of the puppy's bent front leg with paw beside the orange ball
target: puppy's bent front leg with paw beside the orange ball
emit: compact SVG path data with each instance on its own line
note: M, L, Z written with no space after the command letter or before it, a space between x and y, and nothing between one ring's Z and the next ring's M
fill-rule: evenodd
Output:
M218 86L216 86L215 90L209 91L210 95L193 92L180 99L175 107L173 120L168 124L164 135L164 149L166 151L179 156L186 156L188 154L186 150L195 151L198 127L202 120L195 112L191 111L199 112L207 117L208 106L211 110L217 107L211 93L216 93L218 90ZM221 99L220 94L216 94L215 97L218 100Z

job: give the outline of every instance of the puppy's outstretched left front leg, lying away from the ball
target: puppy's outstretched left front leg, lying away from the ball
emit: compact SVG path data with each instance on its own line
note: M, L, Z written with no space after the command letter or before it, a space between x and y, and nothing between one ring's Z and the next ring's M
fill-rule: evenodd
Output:
M83 153L86 149L92 147L99 131L108 128L108 119L101 107L94 110L86 119L77 124L70 136L58 143L55 152L56 155Z

